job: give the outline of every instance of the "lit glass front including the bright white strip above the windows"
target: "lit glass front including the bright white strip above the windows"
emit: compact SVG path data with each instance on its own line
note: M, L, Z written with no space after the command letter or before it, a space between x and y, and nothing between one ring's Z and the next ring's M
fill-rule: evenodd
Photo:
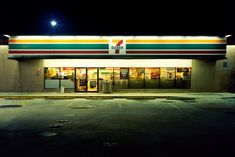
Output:
M113 89L189 89L191 67L186 59L46 59L44 87L97 92L109 81Z

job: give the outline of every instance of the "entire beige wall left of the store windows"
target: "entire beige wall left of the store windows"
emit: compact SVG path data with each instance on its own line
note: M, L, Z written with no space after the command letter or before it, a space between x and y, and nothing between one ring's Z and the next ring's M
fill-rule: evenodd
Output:
M8 46L0 45L0 92L43 91L43 75L43 60L8 59Z

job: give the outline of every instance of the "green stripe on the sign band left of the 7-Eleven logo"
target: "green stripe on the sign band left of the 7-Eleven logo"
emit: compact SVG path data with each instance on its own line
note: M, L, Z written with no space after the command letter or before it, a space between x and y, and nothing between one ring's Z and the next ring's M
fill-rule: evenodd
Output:
M10 49L109 49L108 44L10 44Z

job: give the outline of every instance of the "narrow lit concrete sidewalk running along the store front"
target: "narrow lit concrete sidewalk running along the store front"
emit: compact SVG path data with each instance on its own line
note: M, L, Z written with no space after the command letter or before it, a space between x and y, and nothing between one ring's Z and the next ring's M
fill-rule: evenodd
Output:
M112 98L135 98L135 99L155 99L155 98L198 98L198 97L235 97L235 93L192 93L192 92L112 92L110 94L90 92L90 93L59 93L59 92L0 92L0 98L8 99L32 99L32 98L51 98L51 99L112 99Z

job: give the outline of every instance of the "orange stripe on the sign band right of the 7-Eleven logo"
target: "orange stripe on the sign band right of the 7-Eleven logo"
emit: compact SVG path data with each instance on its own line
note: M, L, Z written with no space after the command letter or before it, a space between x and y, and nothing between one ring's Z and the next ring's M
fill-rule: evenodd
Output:
M182 40L166 40L166 39L157 39L157 40L126 40L127 43L224 43L225 40L217 39L217 40L190 40L190 39L182 39Z

